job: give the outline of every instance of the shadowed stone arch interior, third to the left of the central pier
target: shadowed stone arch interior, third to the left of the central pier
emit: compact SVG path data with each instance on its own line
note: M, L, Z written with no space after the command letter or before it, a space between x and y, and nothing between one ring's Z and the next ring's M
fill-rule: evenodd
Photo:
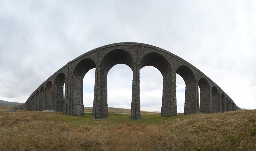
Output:
M60 72L54 80L52 110L56 112L63 112L63 107L64 107L63 86L65 81L66 81L66 77L62 72Z

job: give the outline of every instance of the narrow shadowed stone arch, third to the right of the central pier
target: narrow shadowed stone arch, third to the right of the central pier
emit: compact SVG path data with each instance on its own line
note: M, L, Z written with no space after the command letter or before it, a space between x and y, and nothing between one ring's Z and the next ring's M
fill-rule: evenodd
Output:
M201 78L198 81L198 86L200 88L200 112L201 113L211 113L211 94L210 85L205 78Z

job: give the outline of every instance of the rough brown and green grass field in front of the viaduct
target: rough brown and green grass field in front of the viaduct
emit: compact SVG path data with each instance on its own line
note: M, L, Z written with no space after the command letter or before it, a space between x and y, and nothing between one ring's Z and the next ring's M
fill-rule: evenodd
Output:
M256 110L160 117L0 109L0 150L256 150Z

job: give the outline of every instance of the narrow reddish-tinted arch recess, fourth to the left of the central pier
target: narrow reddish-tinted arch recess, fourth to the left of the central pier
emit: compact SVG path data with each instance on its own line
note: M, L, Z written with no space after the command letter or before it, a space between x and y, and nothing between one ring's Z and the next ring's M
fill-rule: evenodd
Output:
M52 110L52 81L48 81L46 84L44 109Z

